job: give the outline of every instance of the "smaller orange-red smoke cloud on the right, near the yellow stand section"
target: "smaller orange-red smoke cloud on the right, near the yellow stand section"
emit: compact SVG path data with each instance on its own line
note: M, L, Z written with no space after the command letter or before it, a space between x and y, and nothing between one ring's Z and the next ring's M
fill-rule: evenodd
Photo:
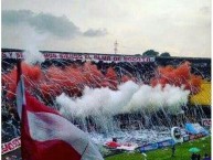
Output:
M151 85L156 86L166 84L182 86L184 85L185 89L190 89L192 94L200 92L202 77L191 74L191 66L189 62L184 62L178 67L173 66L159 66L158 75L151 81Z

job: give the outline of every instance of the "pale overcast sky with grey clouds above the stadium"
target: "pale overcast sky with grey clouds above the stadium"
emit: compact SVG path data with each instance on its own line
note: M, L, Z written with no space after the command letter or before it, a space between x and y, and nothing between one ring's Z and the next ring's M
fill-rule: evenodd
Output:
M211 57L211 0L2 0L1 47Z

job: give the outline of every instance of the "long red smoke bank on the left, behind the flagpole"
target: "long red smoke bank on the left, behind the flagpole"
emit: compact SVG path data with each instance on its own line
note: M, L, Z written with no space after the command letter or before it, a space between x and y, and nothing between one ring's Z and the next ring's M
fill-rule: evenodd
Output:
M45 98L52 98L66 93L70 96L81 96L85 86L93 88L109 87L117 89L118 77L114 68L109 67L103 74L96 65L85 63L84 65L72 64L70 66L50 66L41 70L40 66L31 66L22 63L25 88L31 92L40 92ZM129 77L121 77L121 82ZM10 73L2 75L2 85L7 86L7 97L14 98L17 87L17 67Z

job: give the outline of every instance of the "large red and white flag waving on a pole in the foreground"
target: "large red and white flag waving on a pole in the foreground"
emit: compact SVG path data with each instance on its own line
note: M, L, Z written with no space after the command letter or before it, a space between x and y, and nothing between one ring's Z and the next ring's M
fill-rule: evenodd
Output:
M23 160L104 160L84 131L24 90L21 63L17 106Z

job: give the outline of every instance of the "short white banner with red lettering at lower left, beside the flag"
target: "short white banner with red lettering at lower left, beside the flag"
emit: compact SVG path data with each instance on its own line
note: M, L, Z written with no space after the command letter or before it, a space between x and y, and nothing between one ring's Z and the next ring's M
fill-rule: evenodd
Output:
M21 139L17 137L9 142L1 143L1 154L13 151L21 147Z

